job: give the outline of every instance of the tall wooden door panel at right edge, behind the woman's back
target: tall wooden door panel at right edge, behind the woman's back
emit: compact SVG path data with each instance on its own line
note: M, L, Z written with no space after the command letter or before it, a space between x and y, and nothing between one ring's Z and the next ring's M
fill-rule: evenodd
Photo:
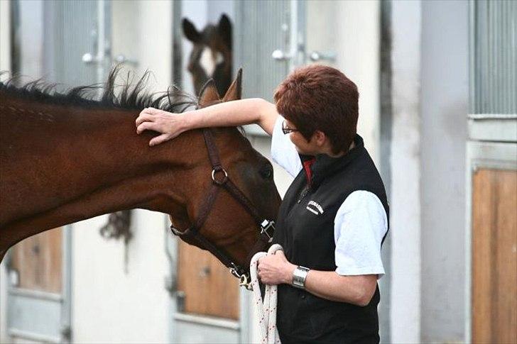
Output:
M472 179L472 343L517 343L517 172Z

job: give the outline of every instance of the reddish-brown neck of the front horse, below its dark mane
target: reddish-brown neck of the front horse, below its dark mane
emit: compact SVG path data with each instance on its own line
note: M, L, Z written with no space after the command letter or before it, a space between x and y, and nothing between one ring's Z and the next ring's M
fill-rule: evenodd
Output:
M165 182L185 186L175 170L201 159L195 150L185 154L193 140L202 144L199 133L149 148L153 134L136 135L138 111L17 104L0 109L0 226L12 233L149 208Z

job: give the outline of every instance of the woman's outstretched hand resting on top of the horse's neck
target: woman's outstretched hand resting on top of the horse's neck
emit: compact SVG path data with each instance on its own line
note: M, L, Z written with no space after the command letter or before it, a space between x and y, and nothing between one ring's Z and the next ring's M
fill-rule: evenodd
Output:
M149 145L158 145L175 138L183 133L183 118L180 113L170 113L167 111L146 108L141 111L136 118L136 133L143 131L156 131L161 135L149 141Z

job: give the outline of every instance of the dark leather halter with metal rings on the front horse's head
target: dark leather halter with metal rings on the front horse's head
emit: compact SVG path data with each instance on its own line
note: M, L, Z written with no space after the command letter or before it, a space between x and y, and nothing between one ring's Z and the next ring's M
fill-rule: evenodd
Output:
M185 231L180 231L178 228L175 228L174 225L170 225L170 230L178 235L183 240L189 241L197 241L200 244L201 248L205 248L210 253L215 255L224 265L229 267L230 272L239 278L241 281L241 286L244 286L249 289L250 287L250 279L249 279L249 265L244 269L240 265L236 264L232 257L230 257L224 250L221 248L217 248L216 245L212 244L205 238L202 234L200 234L200 229L205 223L212 206L214 205L214 201L219 193L219 190L224 188L231 194L236 201L248 211L251 217L254 218L255 223L261 228L260 236L255 243L254 247L251 249L251 252L248 255L248 261L251 260L251 257L254 253L264 250L268 244L273 240L273 232L275 231L275 223L274 221L269 221L267 219L261 218L258 215L258 211L256 207L249 201L249 199L244 195L243 192L236 187L236 185L232 182L232 180L228 177L228 173L224 170L224 167L221 165L221 161L219 160L219 153L217 152L217 146L214 143L214 137L212 131L209 128L205 128L203 131L203 138L205 138L205 145L207 146L208 156L210 162L212 163L212 187L209 190L205 201L203 201L200 209L200 213L198 214L195 223L192 224Z

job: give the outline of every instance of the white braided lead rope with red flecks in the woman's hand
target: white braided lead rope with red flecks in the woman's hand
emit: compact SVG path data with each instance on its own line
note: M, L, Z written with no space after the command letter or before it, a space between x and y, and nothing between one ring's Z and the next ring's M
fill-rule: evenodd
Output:
M266 284L266 292L264 293L264 299L262 300L261 289L258 285L257 276L258 258L265 257L266 255L274 255L278 250L283 250L281 245L271 245L268 253L256 253L249 263L255 314L258 318L258 328L261 332L261 343L263 344L281 344L281 341L280 336L278 335L278 329L276 328L277 287L276 285Z

